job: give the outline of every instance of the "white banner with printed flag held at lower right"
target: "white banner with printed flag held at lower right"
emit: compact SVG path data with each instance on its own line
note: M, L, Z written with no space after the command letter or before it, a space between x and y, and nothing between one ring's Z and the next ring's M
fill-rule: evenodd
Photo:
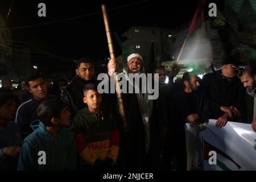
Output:
M221 129L216 120L185 125L187 169L204 171L256 170L256 133L250 124L228 122Z

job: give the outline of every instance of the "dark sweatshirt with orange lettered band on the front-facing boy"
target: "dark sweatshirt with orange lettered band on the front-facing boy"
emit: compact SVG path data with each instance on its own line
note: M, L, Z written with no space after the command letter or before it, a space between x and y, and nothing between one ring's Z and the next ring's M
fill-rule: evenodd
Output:
M119 133L113 114L106 110L92 114L85 107L73 119L71 130L75 133L81 164L94 166L97 159L103 161L110 158L114 162L117 160Z

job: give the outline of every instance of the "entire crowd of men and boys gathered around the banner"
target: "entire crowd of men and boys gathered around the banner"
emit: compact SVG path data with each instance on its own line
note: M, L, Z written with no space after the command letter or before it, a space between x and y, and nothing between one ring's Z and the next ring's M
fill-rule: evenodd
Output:
M186 170L185 123L217 119L221 128L228 121L245 122L256 131L256 68L239 65L226 57L220 70L203 79L185 72L174 82L179 72L174 64L168 84L166 70L156 68L156 100L148 99L141 86L139 93L122 94L127 125L116 95L98 92L92 60L77 61L75 79L68 84L60 78L51 89L34 72L15 94L11 78L3 77L0 170ZM110 59L109 77L113 70L117 64ZM128 56L124 74L143 72L142 56Z

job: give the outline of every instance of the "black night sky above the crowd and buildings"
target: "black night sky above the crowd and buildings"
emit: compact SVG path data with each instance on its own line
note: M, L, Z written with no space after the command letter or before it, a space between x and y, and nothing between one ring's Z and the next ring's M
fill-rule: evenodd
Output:
M13 0L0 2L0 14L3 18L6 18L12 2ZM38 4L40 2L46 3L46 17L38 16ZM100 12L102 3L105 3L107 10L114 9L108 11L110 28L121 36L132 26L178 28L179 30L188 28L199 1L14 0L13 8L7 20L7 27L11 29L15 43L21 47L29 47L34 51L40 49L52 55L60 56L60 59L73 60L80 57L104 59L109 56L109 53L104 21ZM119 8L115 9L117 7ZM42 26L15 28L92 13L96 14ZM115 40L114 48L115 54L121 55L121 49ZM51 56L46 58L43 57L45 55L38 54L32 56L34 62L48 61L51 63L51 61L58 59Z

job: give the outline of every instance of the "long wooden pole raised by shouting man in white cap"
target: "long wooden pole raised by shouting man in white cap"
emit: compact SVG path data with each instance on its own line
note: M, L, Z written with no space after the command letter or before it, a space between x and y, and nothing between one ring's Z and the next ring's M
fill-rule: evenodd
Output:
M110 58L114 59L115 54L114 54L114 48L113 48L113 43L112 43L112 36L110 34L108 14L106 12L105 5L101 5L101 8L102 8L102 14L103 14L103 18L104 18L105 29L106 29L106 36L108 39ZM114 73L114 78L115 78L115 85L117 86L117 89L119 89L116 71ZM118 105L119 105L119 113L120 113L121 119L123 121L122 127L123 127L123 129L127 130L128 124L127 124L127 118L126 118L126 113L125 113L125 106L123 104L123 98L122 98L122 94L120 92L117 93L117 100L118 100Z

